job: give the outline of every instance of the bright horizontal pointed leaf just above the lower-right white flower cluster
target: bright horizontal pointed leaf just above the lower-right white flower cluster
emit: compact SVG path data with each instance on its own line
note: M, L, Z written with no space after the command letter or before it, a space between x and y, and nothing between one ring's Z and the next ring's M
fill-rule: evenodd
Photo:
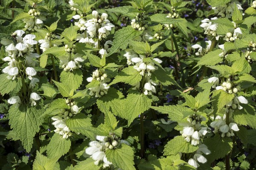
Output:
M181 105L151 106L151 108L160 113L168 114L172 121L180 121L193 113L190 108Z

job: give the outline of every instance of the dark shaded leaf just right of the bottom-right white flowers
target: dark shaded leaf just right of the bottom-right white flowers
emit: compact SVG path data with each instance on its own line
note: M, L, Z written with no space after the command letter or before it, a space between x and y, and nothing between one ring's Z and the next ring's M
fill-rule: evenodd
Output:
M208 162L223 158L228 153L230 153L233 148L233 142L231 138L221 138L221 136L218 134L212 138L204 139L204 144L207 145L208 149L211 151L209 155L205 156Z

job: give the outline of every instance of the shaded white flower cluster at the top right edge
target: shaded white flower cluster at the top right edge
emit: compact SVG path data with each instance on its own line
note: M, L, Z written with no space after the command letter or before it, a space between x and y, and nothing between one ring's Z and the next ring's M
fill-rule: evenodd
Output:
M224 17L230 18L236 6L238 9L241 9L241 10L243 9L238 1L235 1L235 3L233 1L228 6L226 4L223 4L218 7L215 6L215 7L212 7L212 9L214 10L215 14L218 14L223 18Z

